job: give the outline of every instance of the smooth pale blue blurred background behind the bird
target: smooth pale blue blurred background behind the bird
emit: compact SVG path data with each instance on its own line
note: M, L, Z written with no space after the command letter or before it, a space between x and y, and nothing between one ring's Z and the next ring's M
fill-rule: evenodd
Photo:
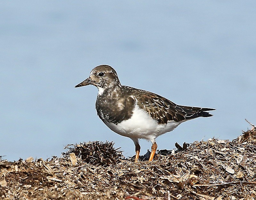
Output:
M95 110L98 90L74 88L108 64L121 84L180 105L216 108L157 138L235 139L256 124L256 1L1 1L0 155L60 156L64 146L131 139ZM141 154L151 143L140 140Z

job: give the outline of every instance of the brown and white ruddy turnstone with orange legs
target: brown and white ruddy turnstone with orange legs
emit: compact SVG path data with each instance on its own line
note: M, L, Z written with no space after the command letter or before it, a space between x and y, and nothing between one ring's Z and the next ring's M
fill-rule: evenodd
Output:
M210 117L212 108L179 106L157 94L120 84L115 69L100 65L92 69L89 78L75 87L95 85L98 90L96 110L100 119L112 131L132 139L135 162L138 162L138 139L152 142L149 161L156 153L156 138L172 131L182 122L197 117Z

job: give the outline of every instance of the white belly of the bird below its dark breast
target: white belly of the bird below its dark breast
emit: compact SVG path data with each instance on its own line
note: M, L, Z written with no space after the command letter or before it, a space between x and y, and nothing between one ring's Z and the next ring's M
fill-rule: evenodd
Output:
M119 124L104 121L112 131L120 135L150 141L155 141L159 135L172 131L182 122L169 121L167 124L158 124L156 120L148 115L145 110L139 108L138 105L135 106L133 115L128 120L124 120Z

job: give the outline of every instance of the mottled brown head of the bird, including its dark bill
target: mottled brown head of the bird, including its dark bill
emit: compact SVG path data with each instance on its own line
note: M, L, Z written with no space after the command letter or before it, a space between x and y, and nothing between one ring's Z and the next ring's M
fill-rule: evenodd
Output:
M85 85L95 85L99 91L104 91L107 88L112 88L115 86L121 87L115 69L108 65L100 65L93 68L89 78L85 79L82 83L76 85L75 87Z

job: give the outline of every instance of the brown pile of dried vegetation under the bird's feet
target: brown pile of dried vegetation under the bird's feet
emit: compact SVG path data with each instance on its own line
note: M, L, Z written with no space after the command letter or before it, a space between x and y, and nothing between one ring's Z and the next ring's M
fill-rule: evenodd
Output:
M134 163L112 142L68 146L63 158L0 161L0 199L256 198L256 128ZM1 157L0 157L1 158ZM147 156L141 157L147 159Z

